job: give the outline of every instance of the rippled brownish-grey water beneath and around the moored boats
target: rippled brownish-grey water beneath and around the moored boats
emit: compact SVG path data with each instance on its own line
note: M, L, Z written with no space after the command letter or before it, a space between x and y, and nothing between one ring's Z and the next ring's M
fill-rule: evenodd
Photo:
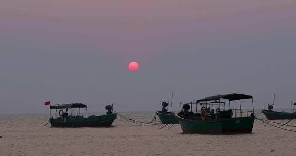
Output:
M149 122L154 112L120 113ZM263 116L261 115L263 118ZM256 120L251 134L183 134L180 125L51 128L48 115L0 115L0 155L295 155L296 133ZM286 121L279 121L285 123ZM290 123L296 125L295 121ZM293 128L292 128L293 129ZM296 128L294 128L296 130Z

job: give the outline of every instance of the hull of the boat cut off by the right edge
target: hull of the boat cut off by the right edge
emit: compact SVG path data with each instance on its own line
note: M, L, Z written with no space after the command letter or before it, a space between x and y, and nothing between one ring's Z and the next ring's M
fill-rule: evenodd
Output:
M268 120L290 120L296 119L296 113L278 112L272 110L261 111Z

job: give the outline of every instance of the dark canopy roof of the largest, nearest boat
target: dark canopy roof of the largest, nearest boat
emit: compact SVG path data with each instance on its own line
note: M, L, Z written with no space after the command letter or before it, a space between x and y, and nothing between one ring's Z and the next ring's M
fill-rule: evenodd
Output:
M225 95L218 95L218 96L210 96L204 99L197 100L196 103L202 103L207 101L219 100L219 99L227 99L229 101L234 100L241 100L241 99L252 99L253 96L251 95L244 95L244 94L225 94Z

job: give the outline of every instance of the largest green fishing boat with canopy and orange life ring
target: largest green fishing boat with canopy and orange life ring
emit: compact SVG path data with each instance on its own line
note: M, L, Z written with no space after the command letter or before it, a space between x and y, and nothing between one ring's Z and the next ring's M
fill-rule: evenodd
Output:
M242 100L252 99L252 111L242 111ZM223 101L221 101L223 100ZM226 110L225 100L229 101ZM231 109L230 102L239 100L239 109ZM255 120L253 97L244 94L225 94L183 104L176 115L184 133L227 134L251 133ZM192 111L195 106L196 111ZM198 111L197 107L201 107ZM214 109L216 108L216 109Z

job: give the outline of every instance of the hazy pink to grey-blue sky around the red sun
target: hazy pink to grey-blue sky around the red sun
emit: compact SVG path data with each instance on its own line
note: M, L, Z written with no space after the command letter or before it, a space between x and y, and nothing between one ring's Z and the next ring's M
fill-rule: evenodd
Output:
M48 113L45 101L155 111L173 89L174 111L227 93L290 108L295 15L294 0L2 0L0 114Z

